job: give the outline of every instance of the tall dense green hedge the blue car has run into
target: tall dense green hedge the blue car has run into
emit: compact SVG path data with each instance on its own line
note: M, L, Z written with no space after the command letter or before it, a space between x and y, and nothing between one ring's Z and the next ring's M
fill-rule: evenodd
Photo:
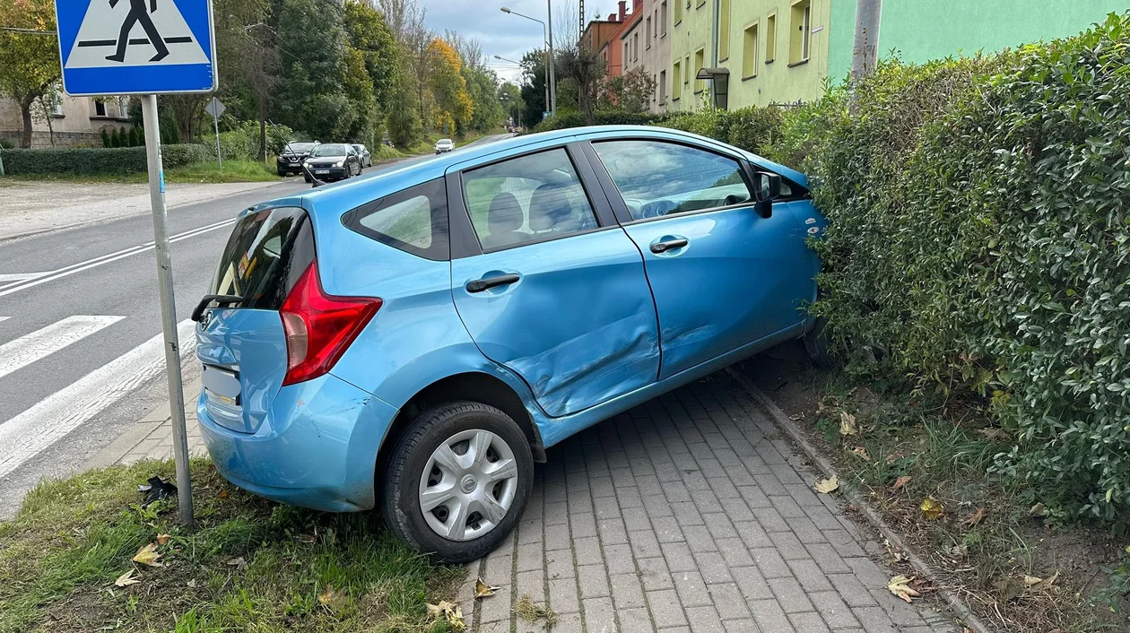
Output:
M888 61L857 99L789 113L808 133L772 146L832 222L812 312L849 368L984 407L1016 437L996 468L1053 517L1124 524L1130 14L992 58Z

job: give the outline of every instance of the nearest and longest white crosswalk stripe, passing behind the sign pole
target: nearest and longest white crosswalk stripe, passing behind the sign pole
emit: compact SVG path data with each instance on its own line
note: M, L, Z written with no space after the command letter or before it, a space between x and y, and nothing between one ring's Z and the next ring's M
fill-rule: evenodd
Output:
M181 359L197 347L193 323L176 326ZM165 340L157 335L32 408L0 424L0 478L165 370Z

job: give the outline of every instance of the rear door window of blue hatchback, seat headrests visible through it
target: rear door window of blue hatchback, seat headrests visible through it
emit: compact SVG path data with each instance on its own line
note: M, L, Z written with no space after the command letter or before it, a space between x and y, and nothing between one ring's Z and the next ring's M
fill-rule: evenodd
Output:
M581 180L562 148L464 172L463 197L484 250L597 228Z

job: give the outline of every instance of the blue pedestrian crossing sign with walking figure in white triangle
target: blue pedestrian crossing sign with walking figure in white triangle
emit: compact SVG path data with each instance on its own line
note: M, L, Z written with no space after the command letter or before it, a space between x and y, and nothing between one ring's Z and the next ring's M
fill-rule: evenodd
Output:
M56 0L63 90L72 96L210 93L210 0Z

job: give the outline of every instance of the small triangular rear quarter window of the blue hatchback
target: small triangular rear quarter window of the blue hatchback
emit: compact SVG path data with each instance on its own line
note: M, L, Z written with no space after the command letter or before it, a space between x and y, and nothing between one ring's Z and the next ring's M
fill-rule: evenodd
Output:
M346 214L346 226L401 251L432 260L451 255L443 179L398 191Z

